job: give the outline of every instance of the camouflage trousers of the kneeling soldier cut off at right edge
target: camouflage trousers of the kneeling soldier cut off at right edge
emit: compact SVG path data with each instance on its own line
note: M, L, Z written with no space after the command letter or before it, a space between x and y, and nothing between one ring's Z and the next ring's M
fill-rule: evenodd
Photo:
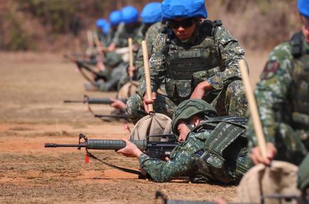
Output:
M299 165L306 154L309 152L309 138L301 140L300 135L303 135L303 130L294 130L287 123L279 123L277 128L277 135L275 135L275 147L277 148L277 155L275 160L287 161ZM309 136L309 132L307 132ZM250 134L249 135L253 135ZM248 153L257 144L256 138L249 138ZM248 156L250 158L250 156ZM249 166L252 167L254 163L250 160Z

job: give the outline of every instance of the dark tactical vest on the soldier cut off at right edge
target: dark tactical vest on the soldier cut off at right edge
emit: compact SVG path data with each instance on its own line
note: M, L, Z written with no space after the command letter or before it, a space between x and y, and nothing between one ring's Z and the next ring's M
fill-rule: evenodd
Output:
M296 130L309 130L309 45L302 32L294 34L290 43L294 57L291 85L293 126Z

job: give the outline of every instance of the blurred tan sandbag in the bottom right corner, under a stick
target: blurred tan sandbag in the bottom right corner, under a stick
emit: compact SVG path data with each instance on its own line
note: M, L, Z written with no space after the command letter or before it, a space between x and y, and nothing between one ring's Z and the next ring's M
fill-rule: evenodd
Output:
M299 196L297 189L298 167L285 161L272 161L271 167L258 164L251 168L238 186L237 196L240 203L297 203L296 199L284 200L272 196Z

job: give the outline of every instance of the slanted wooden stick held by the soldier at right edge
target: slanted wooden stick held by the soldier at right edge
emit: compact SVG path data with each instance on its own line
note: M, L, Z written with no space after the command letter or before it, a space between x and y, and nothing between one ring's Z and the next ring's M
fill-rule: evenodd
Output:
M254 122L254 132L256 132L256 137L258 139L258 147L264 159L267 158L266 142L263 133L263 127L258 116L258 107L256 106L256 99L254 97L254 92L251 88L249 81L248 69L246 67L246 62L244 60L239 60L239 69L242 74L242 82L244 83L244 90L246 91L246 99L249 103L249 109L251 111L251 118Z

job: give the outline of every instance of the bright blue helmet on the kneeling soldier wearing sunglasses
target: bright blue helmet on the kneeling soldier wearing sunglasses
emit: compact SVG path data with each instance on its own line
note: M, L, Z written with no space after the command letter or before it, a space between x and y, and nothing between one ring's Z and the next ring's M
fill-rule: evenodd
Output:
M162 20L175 18L207 18L204 0L164 0Z

